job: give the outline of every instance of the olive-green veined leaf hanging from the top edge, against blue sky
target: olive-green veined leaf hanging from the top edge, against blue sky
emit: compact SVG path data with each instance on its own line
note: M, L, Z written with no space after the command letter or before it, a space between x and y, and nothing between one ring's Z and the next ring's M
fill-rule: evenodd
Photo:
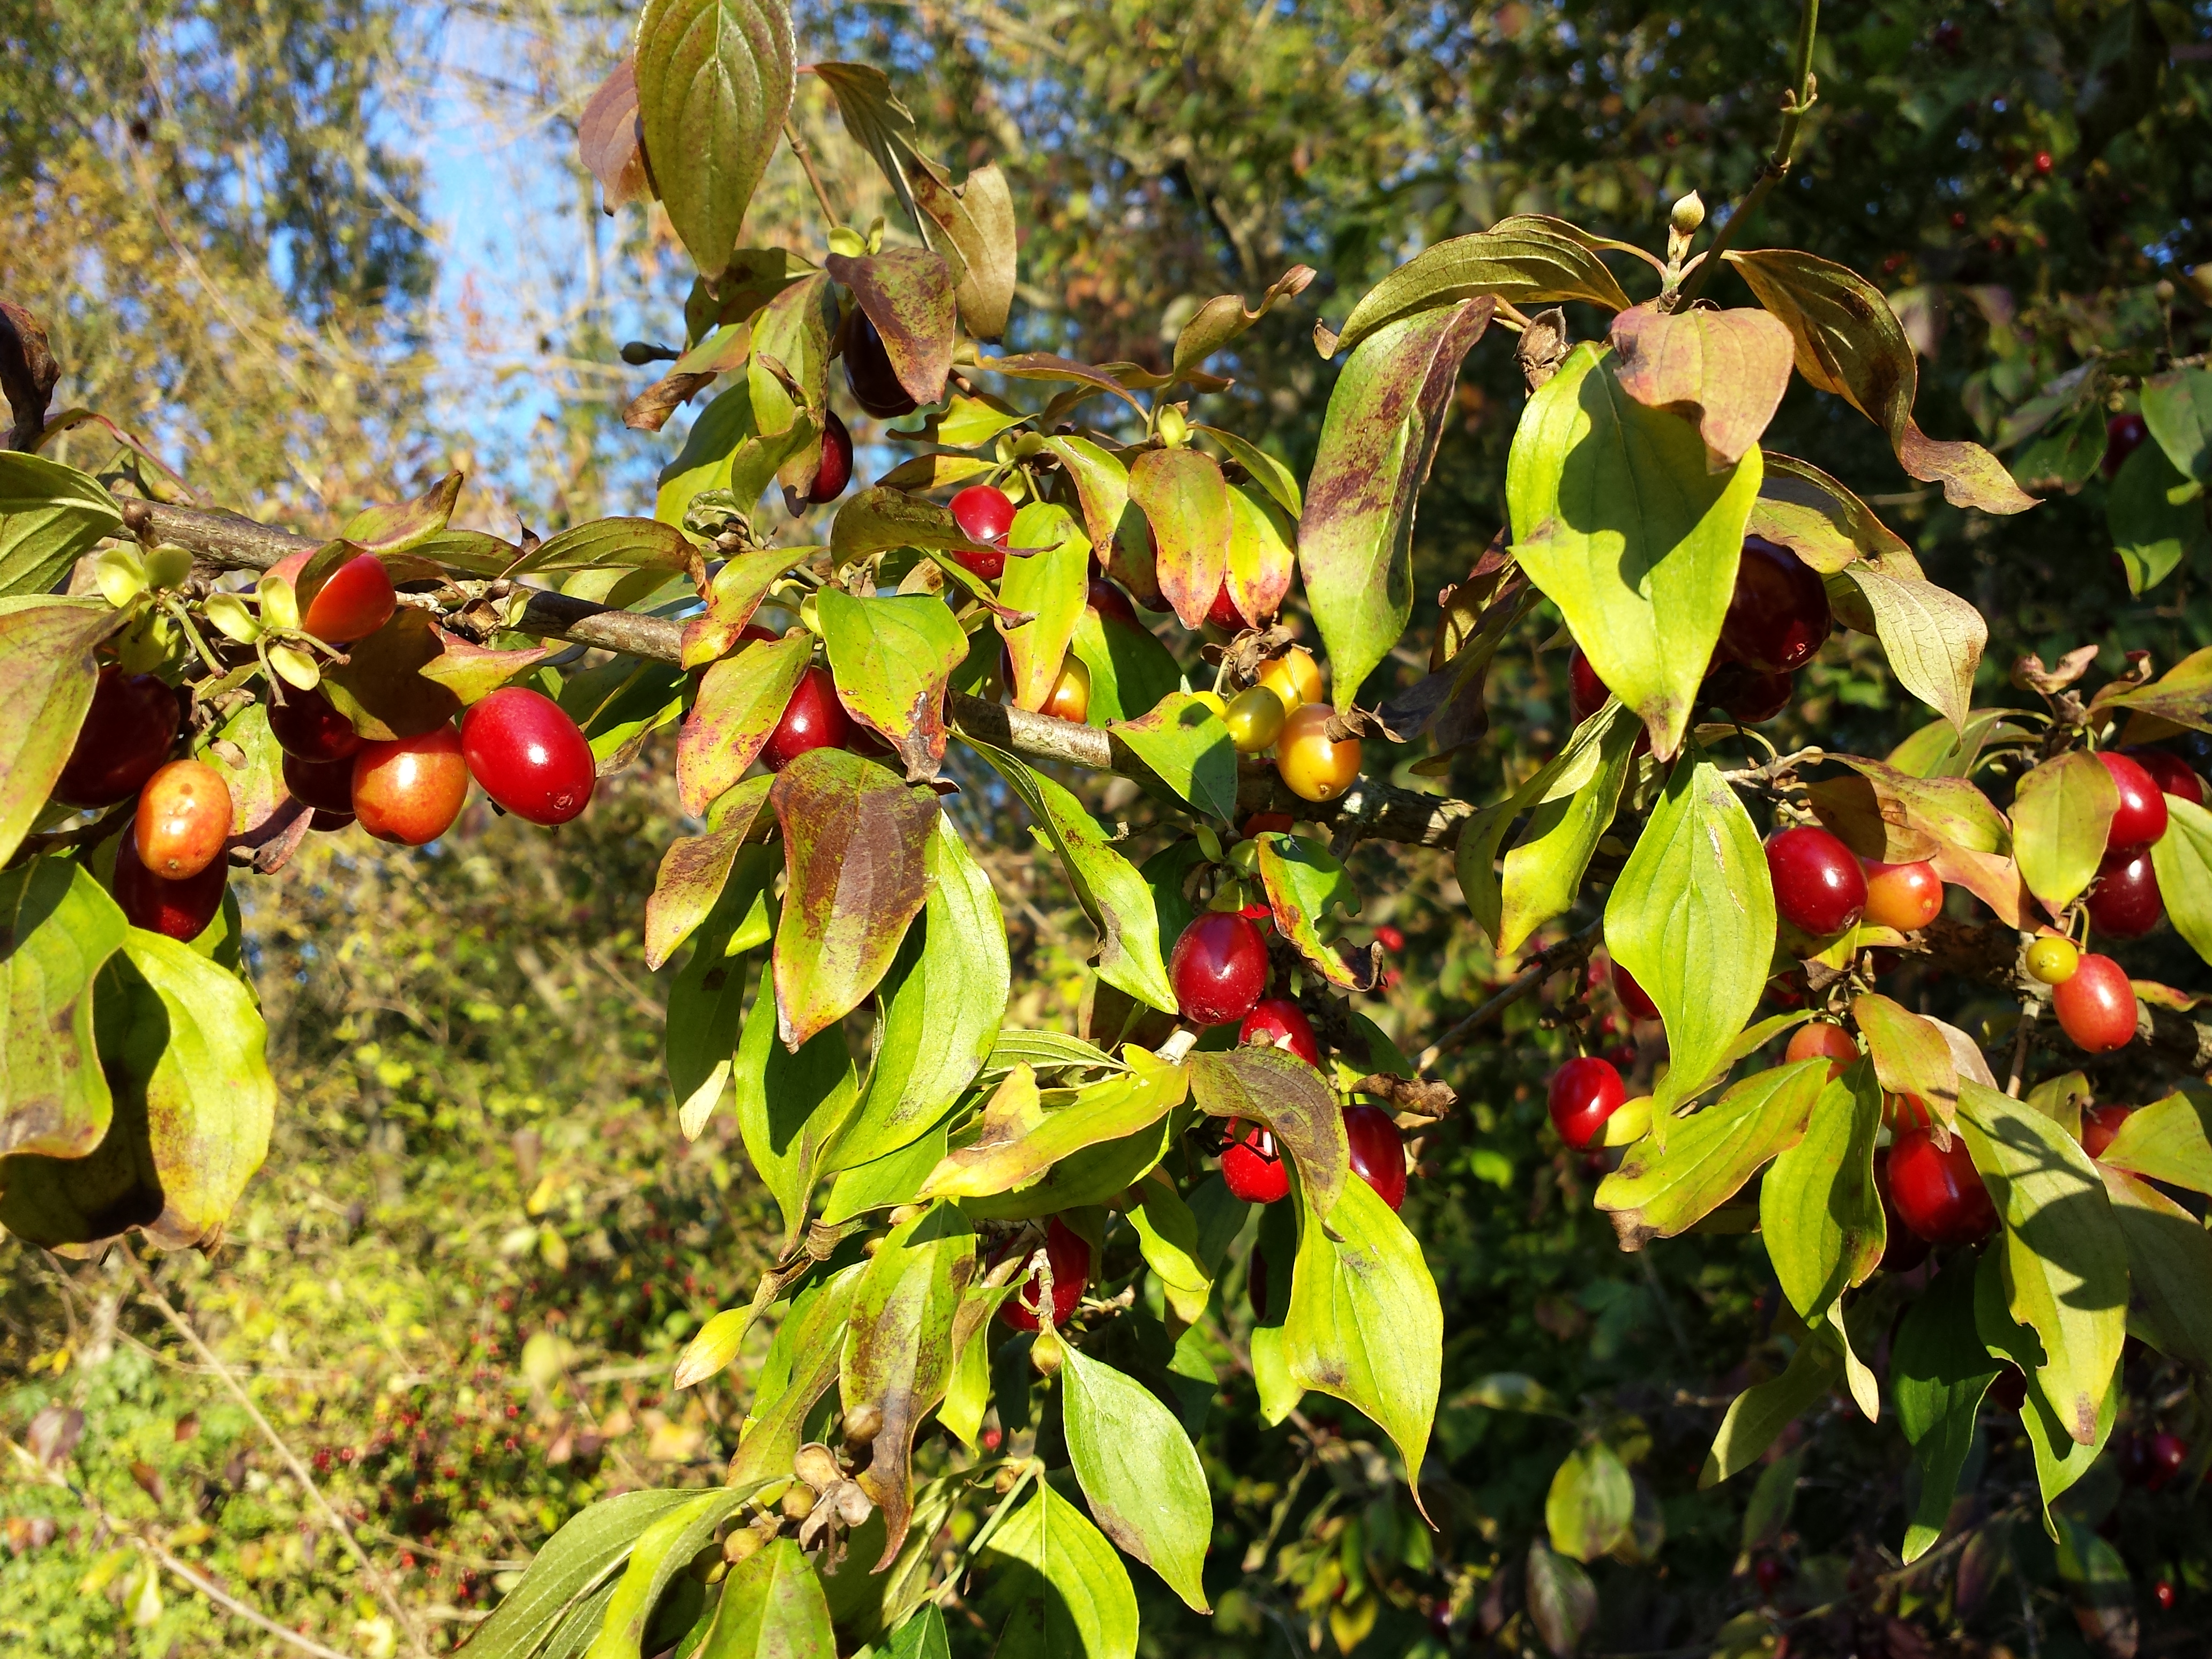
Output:
M792 108L792 13L779 0L648 0L635 58L653 184L712 281L730 265Z

